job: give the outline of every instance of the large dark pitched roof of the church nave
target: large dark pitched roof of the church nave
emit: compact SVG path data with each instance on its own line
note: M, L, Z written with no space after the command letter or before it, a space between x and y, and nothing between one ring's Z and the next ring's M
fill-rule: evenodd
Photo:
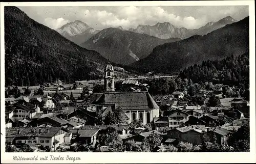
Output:
M105 92L95 104L115 104L122 110L159 109L148 92Z

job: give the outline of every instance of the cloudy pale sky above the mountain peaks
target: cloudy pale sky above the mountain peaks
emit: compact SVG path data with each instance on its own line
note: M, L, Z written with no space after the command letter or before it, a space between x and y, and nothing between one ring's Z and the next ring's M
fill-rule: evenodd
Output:
M155 25L169 22L178 28L198 29L210 21L218 21L226 16L241 20L249 15L248 6L71 6L71 7L18 7L30 18L58 29L62 25L80 20L92 28L122 26L137 28L139 24Z

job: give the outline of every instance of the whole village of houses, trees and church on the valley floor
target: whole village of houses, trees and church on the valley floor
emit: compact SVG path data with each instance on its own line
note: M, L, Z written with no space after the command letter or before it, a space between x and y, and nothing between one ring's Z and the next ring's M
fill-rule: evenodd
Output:
M191 105L186 99L189 89L151 95L153 87L140 83L139 79L115 79L110 64L102 80L64 84L58 79L54 84L35 88L8 87L6 151L249 149L249 101L246 98L226 96L222 85L212 85L211 89L193 93L197 103ZM236 90L236 87L230 88Z

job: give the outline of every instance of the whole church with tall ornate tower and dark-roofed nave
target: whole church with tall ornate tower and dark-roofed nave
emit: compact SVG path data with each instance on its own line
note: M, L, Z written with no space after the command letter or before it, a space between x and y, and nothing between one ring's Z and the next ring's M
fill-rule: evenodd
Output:
M127 123L141 119L143 124L159 117L159 106L148 92L115 92L114 68L108 64L104 74L104 93L92 103L97 114L106 114L120 107L127 116Z

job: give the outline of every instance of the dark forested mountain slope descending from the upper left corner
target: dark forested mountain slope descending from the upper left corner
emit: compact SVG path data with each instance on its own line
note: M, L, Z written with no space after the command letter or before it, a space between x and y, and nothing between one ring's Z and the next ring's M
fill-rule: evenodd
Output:
M107 60L98 52L78 46L17 7L5 7L4 18L6 85L30 86L56 78L73 83L103 75Z

